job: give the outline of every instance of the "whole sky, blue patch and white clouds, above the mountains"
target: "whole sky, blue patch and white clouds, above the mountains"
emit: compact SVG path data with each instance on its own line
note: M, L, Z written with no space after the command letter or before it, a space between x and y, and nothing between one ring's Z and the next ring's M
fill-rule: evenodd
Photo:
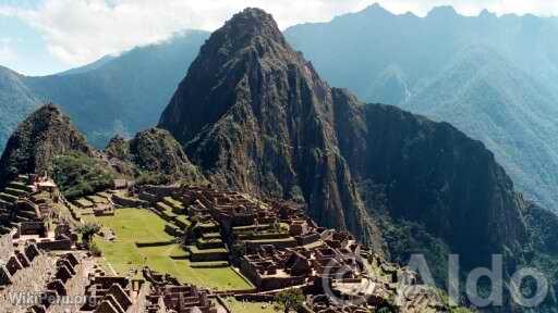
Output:
M374 3L425 16L438 5L464 15L558 16L558 0L0 0L0 65L48 75L159 42L185 29L214 30L232 14L257 7L282 29L326 22Z

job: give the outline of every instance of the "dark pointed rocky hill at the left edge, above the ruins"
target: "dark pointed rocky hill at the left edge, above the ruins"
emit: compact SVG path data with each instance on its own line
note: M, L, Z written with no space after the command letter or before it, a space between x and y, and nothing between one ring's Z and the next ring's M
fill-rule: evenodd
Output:
M20 173L48 171L54 156L72 151L94 154L68 116L53 104L44 105L22 122L8 140L0 159L0 184Z

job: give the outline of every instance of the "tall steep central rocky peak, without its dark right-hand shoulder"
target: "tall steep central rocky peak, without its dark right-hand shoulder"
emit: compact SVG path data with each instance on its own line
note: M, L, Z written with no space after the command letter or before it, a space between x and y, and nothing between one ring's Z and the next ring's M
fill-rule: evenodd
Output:
M272 17L247 9L203 46L159 126L221 187L304 199L325 226L377 242L332 112L330 88Z

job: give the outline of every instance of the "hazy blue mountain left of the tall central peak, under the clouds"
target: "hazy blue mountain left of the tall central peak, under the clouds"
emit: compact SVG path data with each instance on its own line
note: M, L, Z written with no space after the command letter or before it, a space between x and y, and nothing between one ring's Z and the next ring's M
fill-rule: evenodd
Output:
M5 116L0 121L0 150L38 100L58 103L96 148L116 134L131 137L157 124L206 38L205 32L192 30L44 77L0 68L0 113Z

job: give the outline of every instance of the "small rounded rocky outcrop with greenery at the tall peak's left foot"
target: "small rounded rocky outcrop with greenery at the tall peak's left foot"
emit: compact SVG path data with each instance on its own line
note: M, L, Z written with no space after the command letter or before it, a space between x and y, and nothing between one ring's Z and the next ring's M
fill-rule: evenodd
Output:
M165 129L140 132L130 141L114 137L105 153L109 159L131 163L140 171L162 174L171 180L205 181L203 174L190 162L180 143Z

